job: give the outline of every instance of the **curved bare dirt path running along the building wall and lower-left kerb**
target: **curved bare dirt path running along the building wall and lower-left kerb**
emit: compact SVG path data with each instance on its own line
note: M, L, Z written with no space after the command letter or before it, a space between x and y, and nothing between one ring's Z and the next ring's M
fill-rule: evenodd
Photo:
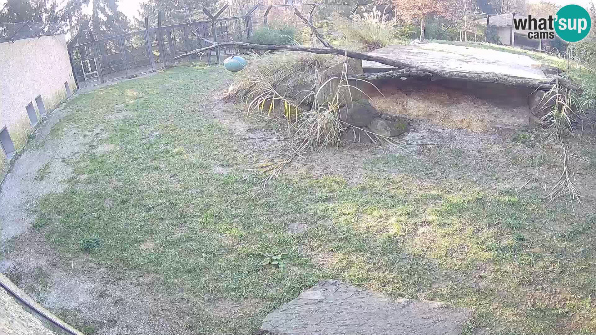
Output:
M0 272L86 334L194 334L188 315L203 311L202 298L171 290L153 275L104 268L86 256L60 256L30 231L39 199L69 187L73 162L89 147L109 150L97 145L107 129L85 133L70 127L52 136L69 113L58 108L49 114L2 184Z

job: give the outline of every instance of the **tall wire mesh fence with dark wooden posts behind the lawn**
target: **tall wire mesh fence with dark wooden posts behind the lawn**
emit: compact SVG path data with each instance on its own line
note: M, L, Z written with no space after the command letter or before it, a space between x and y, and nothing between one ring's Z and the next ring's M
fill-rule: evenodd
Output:
M126 33L76 45L76 37L69 46L73 69L79 87L89 87L125 77L155 71L179 63L175 58L210 45L214 42L246 42L260 27L290 25L308 34L308 26L296 15L290 5L262 5L257 0L239 2L231 0L219 10L192 9L173 11L160 15L157 27ZM296 3L303 14L312 15L319 27L330 26L334 14L347 16L353 5L321 4L310 13L313 4ZM325 30L324 30L325 31ZM204 39L203 39L204 38ZM238 52L233 47L211 49L191 54L190 59L206 63L221 63Z

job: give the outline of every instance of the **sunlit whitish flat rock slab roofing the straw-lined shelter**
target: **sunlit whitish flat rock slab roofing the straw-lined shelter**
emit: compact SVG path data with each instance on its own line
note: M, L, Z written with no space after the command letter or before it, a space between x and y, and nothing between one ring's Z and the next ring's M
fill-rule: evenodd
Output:
M389 45L368 52L393 60L411 63L432 70L470 73L495 72L528 79L545 79L541 65L527 55L472 46L426 43L418 45ZM362 61L365 72L381 72L393 67L375 61Z

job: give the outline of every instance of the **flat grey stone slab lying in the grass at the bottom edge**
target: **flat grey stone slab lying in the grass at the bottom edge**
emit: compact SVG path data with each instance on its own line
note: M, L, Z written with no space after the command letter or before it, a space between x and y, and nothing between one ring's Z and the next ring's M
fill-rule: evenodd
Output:
M456 335L471 312L444 303L392 299L337 280L321 281L265 317L276 335Z

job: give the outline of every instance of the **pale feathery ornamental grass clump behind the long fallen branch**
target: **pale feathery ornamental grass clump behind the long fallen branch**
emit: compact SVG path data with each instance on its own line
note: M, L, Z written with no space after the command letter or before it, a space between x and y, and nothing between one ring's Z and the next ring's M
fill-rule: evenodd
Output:
M352 14L350 18L333 15L334 28L346 36L353 49L373 51L392 44L406 44L407 37L395 20L386 20L386 14L373 8L371 13Z

